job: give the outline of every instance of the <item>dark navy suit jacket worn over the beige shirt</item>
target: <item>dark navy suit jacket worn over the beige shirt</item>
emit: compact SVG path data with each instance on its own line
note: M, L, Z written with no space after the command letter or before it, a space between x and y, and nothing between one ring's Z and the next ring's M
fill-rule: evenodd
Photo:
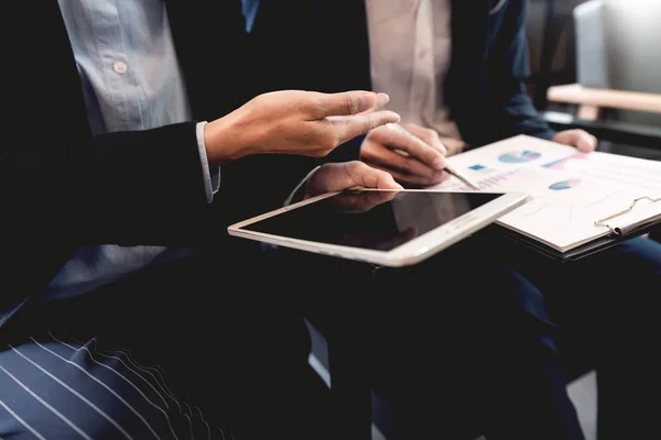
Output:
M251 36L262 69L280 88L371 89L369 40L361 0L247 0L259 9ZM525 94L529 75L525 0L452 1L452 67L445 97L473 147L516 134L550 139ZM384 90L387 91L387 90ZM346 157L356 157L354 142Z

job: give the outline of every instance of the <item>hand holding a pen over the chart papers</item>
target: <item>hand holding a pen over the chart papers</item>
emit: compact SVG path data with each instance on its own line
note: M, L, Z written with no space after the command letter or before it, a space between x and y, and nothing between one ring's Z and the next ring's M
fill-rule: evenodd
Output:
M408 133L379 127L369 132L360 147L360 160L387 170L397 182L407 185L430 186L447 177L447 148L434 130L404 124Z

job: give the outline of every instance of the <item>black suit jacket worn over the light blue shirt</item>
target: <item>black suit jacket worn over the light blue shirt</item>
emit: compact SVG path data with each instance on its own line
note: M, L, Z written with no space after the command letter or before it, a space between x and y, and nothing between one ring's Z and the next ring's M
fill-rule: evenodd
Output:
M257 94L239 0L167 0L167 12L196 121ZM282 204L308 170L275 179L275 156L239 161L210 206L195 122L93 138L56 0L4 2L0 53L0 326L79 246L225 240L229 221L270 207L232 188Z

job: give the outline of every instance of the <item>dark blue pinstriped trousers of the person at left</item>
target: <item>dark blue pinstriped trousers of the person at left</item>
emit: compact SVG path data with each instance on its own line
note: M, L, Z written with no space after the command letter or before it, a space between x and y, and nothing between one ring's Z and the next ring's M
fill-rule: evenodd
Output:
M303 320L249 280L232 293L218 264L145 271L23 314L1 336L0 438L319 438L301 422L325 417Z

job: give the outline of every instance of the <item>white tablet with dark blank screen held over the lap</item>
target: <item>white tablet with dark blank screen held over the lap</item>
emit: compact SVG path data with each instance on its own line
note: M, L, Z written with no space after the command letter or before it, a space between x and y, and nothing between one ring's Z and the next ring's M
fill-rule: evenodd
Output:
M332 193L228 228L230 235L386 266L418 263L521 206L521 193Z

